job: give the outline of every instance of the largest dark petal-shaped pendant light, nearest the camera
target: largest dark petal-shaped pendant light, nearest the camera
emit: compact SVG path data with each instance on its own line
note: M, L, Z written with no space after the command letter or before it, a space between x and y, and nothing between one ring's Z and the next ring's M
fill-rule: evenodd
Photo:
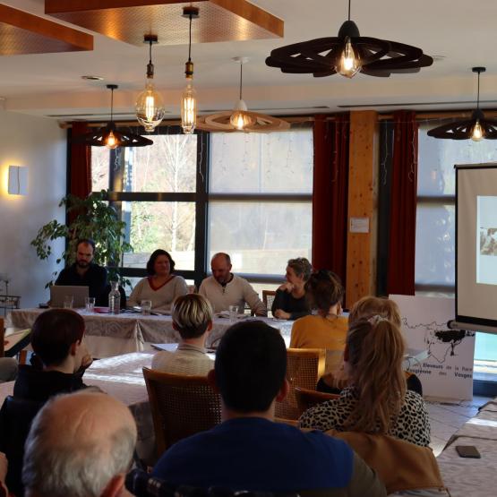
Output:
M433 64L421 48L397 41L362 37L356 22L348 20L338 37L311 39L275 48L266 59L270 67L282 73L312 73L314 77L341 74L352 78L356 73L389 77L391 73L418 73L421 67Z

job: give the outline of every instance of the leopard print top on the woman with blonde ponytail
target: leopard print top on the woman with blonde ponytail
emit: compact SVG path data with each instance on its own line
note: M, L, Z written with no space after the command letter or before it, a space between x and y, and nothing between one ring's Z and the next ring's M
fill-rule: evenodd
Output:
M299 419L299 426L322 432L331 429L343 432L345 431L344 424L356 405L356 398L356 390L353 387L347 387L342 390L340 398L327 400L305 411ZM420 395L411 390L406 391L404 405L397 419L390 424L387 434L422 447L429 445L430 420L424 400Z

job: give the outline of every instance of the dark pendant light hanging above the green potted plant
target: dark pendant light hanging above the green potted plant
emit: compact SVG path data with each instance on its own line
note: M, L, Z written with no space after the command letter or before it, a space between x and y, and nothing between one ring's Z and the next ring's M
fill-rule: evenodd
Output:
M92 147L107 147L110 150L117 147L146 147L147 145L153 145L153 141L140 134L116 128L116 123L114 122L114 90L117 88L116 84L107 84L107 89L110 90L110 121L94 132L75 136L72 139L73 143L83 143Z

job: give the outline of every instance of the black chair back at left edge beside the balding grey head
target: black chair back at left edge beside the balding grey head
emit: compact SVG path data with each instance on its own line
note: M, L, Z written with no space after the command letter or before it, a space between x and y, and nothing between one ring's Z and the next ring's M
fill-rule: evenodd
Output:
M30 433L30 426L43 402L8 396L0 409L0 451L9 461L5 483L9 490L21 497L24 488L21 483L24 442Z

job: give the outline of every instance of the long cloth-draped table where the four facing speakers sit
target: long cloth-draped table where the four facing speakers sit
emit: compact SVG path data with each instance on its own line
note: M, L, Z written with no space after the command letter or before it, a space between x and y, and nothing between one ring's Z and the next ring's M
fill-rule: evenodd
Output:
M45 309L14 309L8 316L15 328L30 328ZM102 314L77 310L84 318L86 343L93 357L111 357L150 350L152 343L177 343L180 336L173 330L171 316L144 316L139 313ZM251 319L247 316L246 319ZM254 318L255 319L255 318ZM290 340L293 321L256 318L266 321ZM207 347L217 345L231 322L227 318L214 318Z

